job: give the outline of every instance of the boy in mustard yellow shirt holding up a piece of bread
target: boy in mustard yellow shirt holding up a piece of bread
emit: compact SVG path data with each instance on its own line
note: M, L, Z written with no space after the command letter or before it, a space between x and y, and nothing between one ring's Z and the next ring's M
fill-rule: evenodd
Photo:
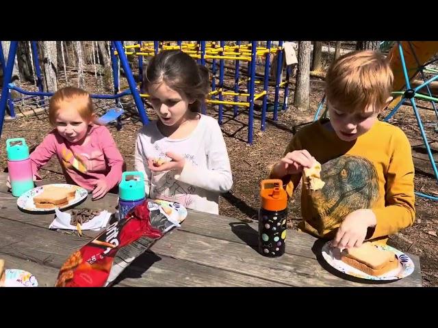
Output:
M335 247L385 243L415 219L411 145L400 128L377 119L393 80L381 53L339 57L326 74L330 120L301 128L272 166L270 178L281 178L291 197L303 169L322 164L324 187L302 186L300 228L333 238Z

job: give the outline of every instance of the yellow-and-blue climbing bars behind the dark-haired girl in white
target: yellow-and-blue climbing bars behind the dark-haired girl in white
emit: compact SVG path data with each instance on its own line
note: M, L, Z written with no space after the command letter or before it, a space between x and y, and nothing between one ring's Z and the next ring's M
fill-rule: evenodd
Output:
M253 120L255 101L262 99L261 105L261 131L266 128L266 113L268 109L268 88L270 79L270 59L271 55L277 55L277 66L274 81L274 102L273 102L273 120L277 120L279 109L279 90L284 87L284 101L281 105L281 110L287 107L287 98L289 94L289 77L291 73L290 66L286 69L285 81L281 81L281 73L283 70L283 41L279 41L278 46L272 46L271 41L266 41L266 46L258 46L257 41L252 41L248 44L242 44L236 41L235 44L225 44L224 41L206 42L200 41L194 43L177 42L141 42L131 46L125 46L125 55L138 56L139 77L142 76L143 57L153 57L162 50L180 49L188 53L191 57L198 61L198 64L207 65L207 60L211 59L211 92L205 102L211 105L218 105L218 122L222 124L224 105L233 106L233 116L236 117L239 113L237 107L248 109L248 143L253 143ZM117 53L118 54L118 53ZM264 66L263 77L257 77L257 61L261 59ZM219 60L219 69L217 67ZM234 70L234 86L233 90L225 90L224 85L224 61L235 61ZM240 77L240 65L242 62L248 63L248 77L242 79ZM217 75L219 74L219 77ZM257 81L258 79L258 81ZM141 82L141 81L140 81ZM246 83L246 90L240 90L240 85ZM263 85L263 90L257 92L255 85ZM140 94L142 98L147 98L147 94ZM225 97L232 99L225 99ZM218 97L218 98L216 98ZM246 101L240 101L240 97L245 97ZM205 113L205 106L202 109Z

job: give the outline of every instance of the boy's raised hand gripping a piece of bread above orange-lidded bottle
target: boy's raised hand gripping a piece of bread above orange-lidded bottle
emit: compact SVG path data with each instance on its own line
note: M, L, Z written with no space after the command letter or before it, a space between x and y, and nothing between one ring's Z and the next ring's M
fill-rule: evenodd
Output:
M305 149L288 152L286 156L273 167L274 174L283 177L287 174L302 172L304 167L311 167L315 159Z

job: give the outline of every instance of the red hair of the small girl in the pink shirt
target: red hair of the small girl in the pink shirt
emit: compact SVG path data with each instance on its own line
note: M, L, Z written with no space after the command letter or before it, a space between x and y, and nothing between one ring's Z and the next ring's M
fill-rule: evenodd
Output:
M57 90L49 100L49 122L55 126L57 112L63 102L75 102L75 108L81 118L88 122L93 120L93 102L90 94L79 87L63 87Z

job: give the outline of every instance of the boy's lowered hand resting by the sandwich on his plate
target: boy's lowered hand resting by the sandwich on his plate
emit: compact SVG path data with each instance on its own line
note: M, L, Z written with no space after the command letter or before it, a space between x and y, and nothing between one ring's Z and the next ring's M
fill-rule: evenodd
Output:
M333 246L339 249L360 247L368 227L376 226L376 215L372 210L355 210L347 215L337 230Z

